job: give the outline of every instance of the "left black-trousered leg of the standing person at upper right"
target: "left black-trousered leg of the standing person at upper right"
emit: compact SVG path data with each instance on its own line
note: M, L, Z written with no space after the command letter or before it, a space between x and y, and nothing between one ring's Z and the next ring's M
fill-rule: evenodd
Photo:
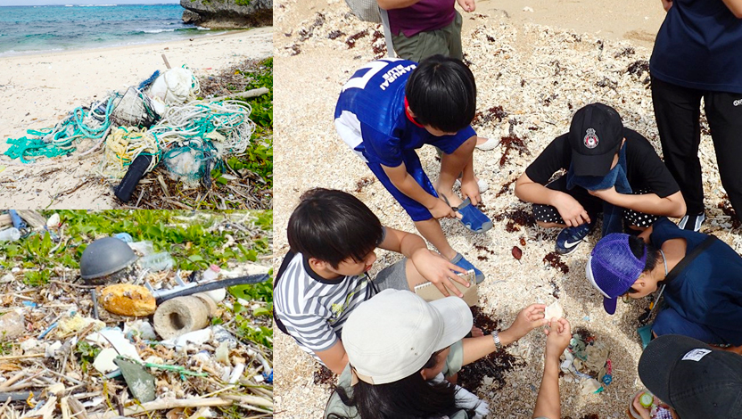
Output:
M664 164L680 185L688 215L704 211L704 185L698 160L702 95L699 90L652 78L652 103Z

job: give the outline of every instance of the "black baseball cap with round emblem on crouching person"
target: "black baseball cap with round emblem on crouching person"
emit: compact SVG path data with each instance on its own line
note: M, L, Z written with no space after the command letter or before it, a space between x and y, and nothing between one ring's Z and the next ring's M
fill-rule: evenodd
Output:
M569 127L574 174L606 176L622 139L621 116L610 106L590 103L576 111Z

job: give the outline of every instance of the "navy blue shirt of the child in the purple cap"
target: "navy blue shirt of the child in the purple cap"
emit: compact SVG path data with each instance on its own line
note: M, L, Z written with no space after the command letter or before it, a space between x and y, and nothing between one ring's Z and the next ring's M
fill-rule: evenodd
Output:
M708 235L682 230L667 218L655 222L650 239L659 249L671 239L686 240L686 255ZM667 283L664 299L680 316L732 345L742 345L742 257L716 240Z

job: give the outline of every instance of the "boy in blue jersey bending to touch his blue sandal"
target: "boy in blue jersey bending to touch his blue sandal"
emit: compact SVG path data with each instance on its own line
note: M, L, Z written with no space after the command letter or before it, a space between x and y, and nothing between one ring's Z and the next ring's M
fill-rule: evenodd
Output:
M439 218L459 218L474 233L492 222L475 205L481 201L474 177L476 133L469 126L476 109L474 75L463 62L433 55L417 64L383 59L356 71L342 87L335 108L335 127L359 154L417 231L458 267L474 269L451 248ZM433 186L416 149L441 149L441 173ZM461 175L461 195L453 192Z

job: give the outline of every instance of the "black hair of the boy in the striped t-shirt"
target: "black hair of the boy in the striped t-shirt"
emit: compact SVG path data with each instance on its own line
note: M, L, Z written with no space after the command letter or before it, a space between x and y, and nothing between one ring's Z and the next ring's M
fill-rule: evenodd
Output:
M363 260L383 240L383 227L371 209L350 193L310 189L301 195L287 229L292 251L337 268Z

